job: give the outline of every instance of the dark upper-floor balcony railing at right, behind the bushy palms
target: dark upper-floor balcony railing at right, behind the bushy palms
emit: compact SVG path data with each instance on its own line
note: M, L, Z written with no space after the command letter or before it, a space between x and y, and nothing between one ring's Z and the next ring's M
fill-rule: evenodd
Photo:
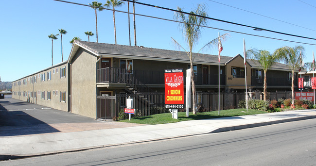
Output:
M263 86L264 77L257 78L251 77L252 86ZM292 86L292 80L287 78L276 78L276 77L267 77L266 78L267 86ZM294 86L298 85L298 79L294 79Z

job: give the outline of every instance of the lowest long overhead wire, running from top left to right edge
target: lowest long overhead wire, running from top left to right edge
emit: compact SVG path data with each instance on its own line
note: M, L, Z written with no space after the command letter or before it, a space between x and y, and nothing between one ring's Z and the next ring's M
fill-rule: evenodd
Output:
M69 1L65 1L65 0L55 0L55 1L60 1L60 2L65 2L65 3L71 3L71 4L77 4L77 5L82 5L82 6L91 7L90 5L81 4L81 3L76 3L76 2L69 2ZM96 7L96 8L102 8L102 7ZM102 8L102 9L113 11L113 9L107 9L107 8ZM126 14L133 14L133 13L124 12L124 11L119 11L119 10L115 10L115 11L116 11L116 12L121 12L121 13L126 13ZM185 23L185 24L188 24L188 23L186 23L186 22L176 21L176 20L172 20L172 19L166 19L166 18L160 18L160 17L153 17L153 16L141 15L141 14L136 14L136 13L135 13L135 15L137 15L137 16L142 16L142 17L156 18L156 19L166 20L166 21L171 21L171 22L177 22L177 23ZM191 25L196 25L196 24L191 24ZM316 44L311 44L311 43L303 43L303 42L297 42L297 41L292 41L292 40L285 40L285 39L279 39L279 38L274 38L274 37L267 37L267 36L261 36L261 35L256 35L256 34L250 34L250 33L242 33L242 32L231 31L231 30L226 30L226 29L221 29L221 28L214 28L214 27L209 27L209 26L201 26L201 27L211 28L211 29L216 29L216 30L221 30L221 31L227 31L227 32L232 32L232 33L241 33L241 34L246 34L246 35L251 35L251 36L256 36L256 37L263 37L263 38L274 39L274 40L287 41L287 42L292 42L292 43L300 43L300 44L306 44L306 45L313 45L313 46L316 46Z

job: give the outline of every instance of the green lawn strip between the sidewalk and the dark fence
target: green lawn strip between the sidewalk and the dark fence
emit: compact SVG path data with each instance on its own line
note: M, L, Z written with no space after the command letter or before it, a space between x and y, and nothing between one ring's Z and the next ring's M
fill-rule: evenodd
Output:
M120 122L129 122L129 123L139 123L139 124L164 124L164 123L175 123L185 120L198 120L198 119L211 119L218 117L228 117L228 116L245 116L245 115L254 115L254 114L265 114L268 112L248 109L231 109L231 110L222 110L220 111L220 115L218 115L218 111L205 112L205 113L197 113L197 115L193 115L190 112L189 117L186 117L185 112L178 113L178 118L173 119L170 113L165 114L156 114L152 116L142 116L142 117L133 117L131 120L125 119L120 120Z

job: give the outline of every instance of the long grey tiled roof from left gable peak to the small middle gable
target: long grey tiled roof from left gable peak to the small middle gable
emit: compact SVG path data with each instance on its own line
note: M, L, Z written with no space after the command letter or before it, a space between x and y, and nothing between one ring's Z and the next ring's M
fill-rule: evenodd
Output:
M170 61L175 62L190 62L190 59L185 51L175 51L175 50L163 50L145 47L135 47L135 46L125 46L125 45L115 45L106 43L94 43L87 41L75 41L72 50L70 52L69 61L75 55L78 48L81 47L88 50L97 56L111 56L118 58L133 58L133 59L146 59L146 60L159 60L159 61ZM196 53L193 54L193 56ZM221 56L221 65L225 65L232 57ZM195 56L194 63L196 64L218 64L218 55L209 55L198 53Z

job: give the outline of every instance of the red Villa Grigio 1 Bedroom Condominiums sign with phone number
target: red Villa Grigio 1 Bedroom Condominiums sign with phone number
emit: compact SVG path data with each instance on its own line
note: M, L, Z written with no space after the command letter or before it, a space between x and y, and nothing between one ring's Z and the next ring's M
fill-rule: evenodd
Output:
M165 69L165 106L184 108L183 69Z

